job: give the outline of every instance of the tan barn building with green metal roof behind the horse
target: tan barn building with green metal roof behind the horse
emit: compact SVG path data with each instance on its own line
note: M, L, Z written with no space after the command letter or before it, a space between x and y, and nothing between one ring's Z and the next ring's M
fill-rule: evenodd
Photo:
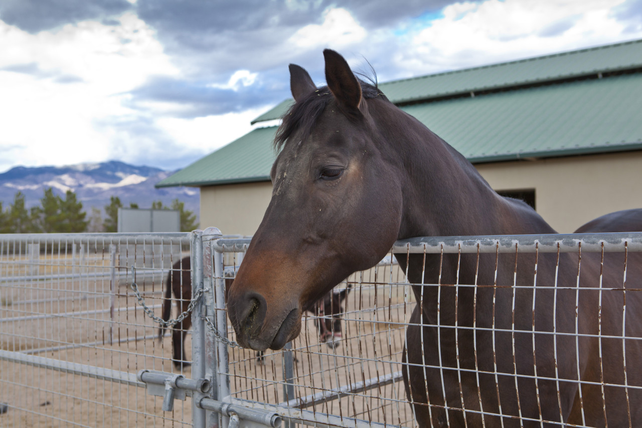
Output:
M642 40L379 84L464 154L492 188L560 233L642 207ZM278 119L286 100L253 123ZM200 222L252 235L277 127L258 127L157 184L200 188Z

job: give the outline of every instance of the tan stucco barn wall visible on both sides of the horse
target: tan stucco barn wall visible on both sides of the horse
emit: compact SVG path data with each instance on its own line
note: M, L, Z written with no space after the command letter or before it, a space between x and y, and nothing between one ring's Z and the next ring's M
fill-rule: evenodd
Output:
M495 190L535 189L537 212L560 233L600 215L642 208L642 151L477 164ZM253 235L270 202L272 183L201 188L201 227Z

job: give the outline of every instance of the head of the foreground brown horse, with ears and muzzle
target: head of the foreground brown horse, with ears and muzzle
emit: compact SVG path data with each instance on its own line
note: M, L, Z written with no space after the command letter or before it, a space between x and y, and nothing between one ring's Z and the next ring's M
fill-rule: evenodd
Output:
M295 103L275 139L272 199L229 291L237 340L254 350L297 337L302 313L379 262L399 233L399 165L374 120L392 103L341 55L324 57L327 87L290 65Z

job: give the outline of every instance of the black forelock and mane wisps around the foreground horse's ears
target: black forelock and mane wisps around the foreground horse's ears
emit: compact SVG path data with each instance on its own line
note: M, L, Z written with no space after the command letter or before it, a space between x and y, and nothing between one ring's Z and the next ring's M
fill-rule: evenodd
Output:
M369 82L365 82L361 78L358 78L361 84L361 96L363 96L363 98L380 97L383 100L388 100L388 98L379 91L379 87L377 87L376 75L369 77L360 74L360 76L369 80ZM333 96L330 89L327 86L323 86L313 93L310 93L303 100L293 103L290 109L281 116L282 122L274 137L274 150L279 152L286 141L288 141L288 138L298 130L302 132L302 140L308 138L312 132L312 128L315 123L317 123L318 117L321 116L325 107L327 107L332 100Z

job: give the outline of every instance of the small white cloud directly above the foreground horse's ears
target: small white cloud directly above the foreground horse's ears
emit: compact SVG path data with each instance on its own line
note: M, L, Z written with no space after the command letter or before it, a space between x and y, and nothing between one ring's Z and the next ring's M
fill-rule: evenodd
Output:
M309 24L300 28L288 40L297 48L311 49L317 46L340 48L361 42L367 31L343 8L328 8L324 11L322 24Z

